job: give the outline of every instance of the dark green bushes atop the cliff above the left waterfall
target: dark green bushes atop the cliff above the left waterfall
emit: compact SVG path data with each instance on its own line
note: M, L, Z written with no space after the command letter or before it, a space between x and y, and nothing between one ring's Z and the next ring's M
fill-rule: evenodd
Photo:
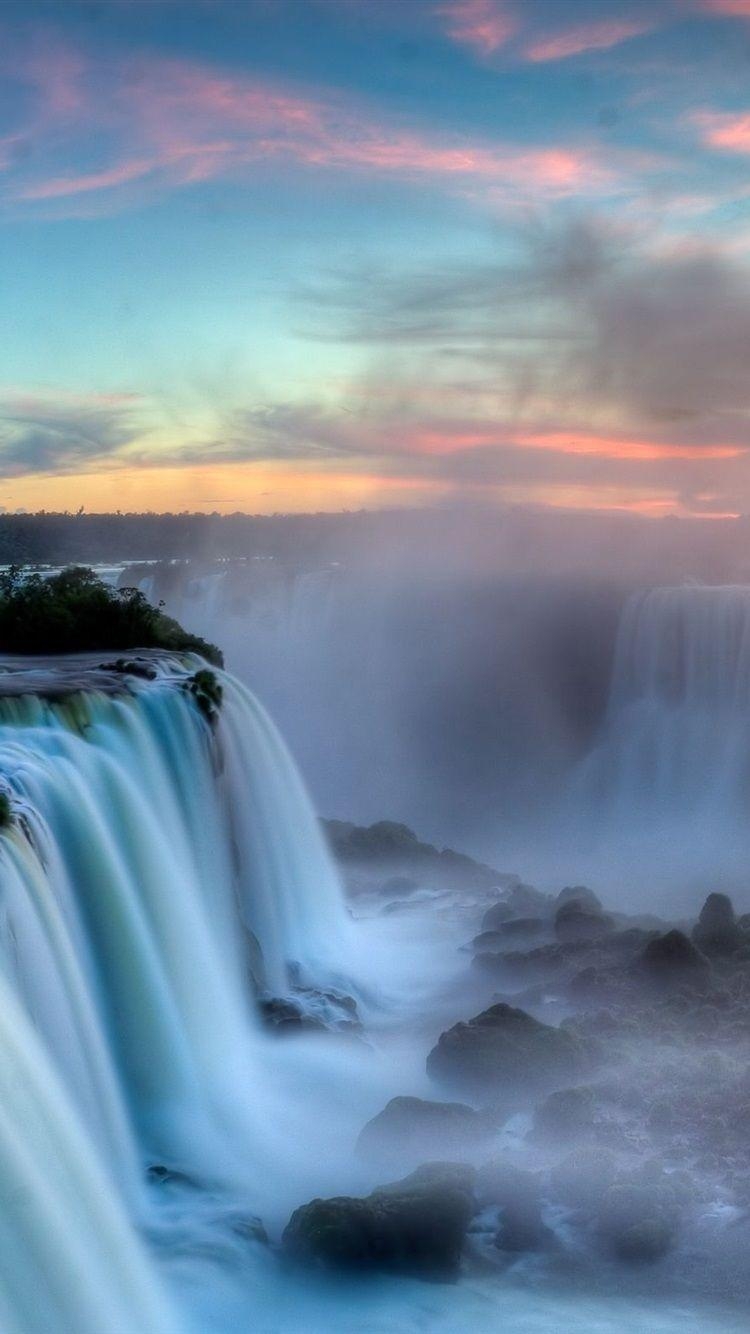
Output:
M69 566L48 579L24 575L19 566L0 574L0 652L75 654L100 648L195 652L222 666L215 644L188 635L152 607L139 588L111 588L84 566Z

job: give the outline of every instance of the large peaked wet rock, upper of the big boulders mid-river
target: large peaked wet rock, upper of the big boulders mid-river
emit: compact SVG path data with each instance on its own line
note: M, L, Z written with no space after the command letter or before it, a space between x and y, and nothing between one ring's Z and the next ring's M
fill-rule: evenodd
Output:
M446 1086L512 1101L586 1075L595 1058L594 1045L575 1034L499 1003L443 1033L427 1073Z

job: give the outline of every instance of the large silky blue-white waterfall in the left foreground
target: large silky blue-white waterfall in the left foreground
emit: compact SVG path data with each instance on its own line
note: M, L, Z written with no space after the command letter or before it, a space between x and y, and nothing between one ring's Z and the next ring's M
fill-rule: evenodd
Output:
M199 659L153 655L156 679L127 688L93 662L16 666L0 672L0 1326L165 1334L132 1223L152 1209L145 1167L219 1182L244 1159L252 1179L272 1146L255 995L338 980L348 920L294 763L230 675L211 723L185 688Z

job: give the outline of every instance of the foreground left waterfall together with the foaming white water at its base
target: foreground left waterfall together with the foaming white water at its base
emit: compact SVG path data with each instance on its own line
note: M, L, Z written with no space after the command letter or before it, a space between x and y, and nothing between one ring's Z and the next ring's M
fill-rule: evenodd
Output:
M183 676L163 660L133 696L0 700L17 816L0 836L3 1334L739 1330L733 1313L496 1275L355 1287L234 1231L258 1210L278 1234L302 1199L375 1183L351 1146L387 1097L428 1093L423 1058L452 1018L435 966L462 984L472 926L435 930L430 904L406 932L398 916L368 930L370 972L403 1006L374 1050L264 1037L259 975L335 984L358 942L268 718L222 676L212 732ZM159 1195L152 1163L198 1185Z

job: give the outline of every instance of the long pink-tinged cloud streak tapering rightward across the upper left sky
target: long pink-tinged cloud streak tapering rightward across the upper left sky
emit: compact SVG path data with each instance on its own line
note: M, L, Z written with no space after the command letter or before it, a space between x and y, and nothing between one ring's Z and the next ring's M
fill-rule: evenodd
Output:
M15 197L69 200L115 196L128 188L129 197L136 187L143 192L240 177L254 163L271 160L479 183L494 192L511 191L514 197L585 193L614 177L611 167L605 167L586 145L467 143L458 136L391 124L340 97L303 96L195 63L129 61L96 77L99 83L85 85L85 113L64 127L63 149L73 165L40 175L37 161L44 160L44 153L36 152L21 167ZM85 157L81 161L92 120L101 140L96 163ZM57 164L60 145L55 137ZM37 131L37 139L44 148L44 133Z

